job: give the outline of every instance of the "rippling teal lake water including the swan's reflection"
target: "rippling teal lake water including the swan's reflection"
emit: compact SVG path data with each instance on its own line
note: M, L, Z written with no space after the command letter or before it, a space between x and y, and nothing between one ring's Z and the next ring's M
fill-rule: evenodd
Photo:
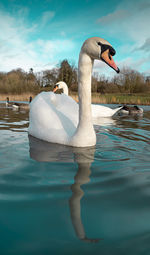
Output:
M142 107L143 117L100 120L96 146L77 149L28 137L28 112L1 104L0 254L150 254Z

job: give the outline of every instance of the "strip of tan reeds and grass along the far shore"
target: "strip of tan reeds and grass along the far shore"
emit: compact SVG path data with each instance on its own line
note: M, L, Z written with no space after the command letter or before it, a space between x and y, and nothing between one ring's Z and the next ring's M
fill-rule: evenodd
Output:
M72 98L78 101L77 93L70 94ZM6 97L9 96L10 101L28 101L29 97L35 97L33 93L23 93L21 95L15 94L1 94L0 101L5 101ZM92 94L92 103L101 104L137 104L137 105L150 105L150 94L105 94L99 93Z

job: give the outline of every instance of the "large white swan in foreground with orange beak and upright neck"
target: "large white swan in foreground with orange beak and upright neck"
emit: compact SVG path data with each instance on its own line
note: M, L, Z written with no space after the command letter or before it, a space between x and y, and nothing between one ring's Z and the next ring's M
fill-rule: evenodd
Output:
M68 146L94 146L96 134L91 114L92 67L94 59L98 59L119 73L119 68L112 58L115 53L108 41L100 37L88 38L81 47L78 62L79 120L77 128L72 121L74 118L72 101L74 100L66 95L42 92L30 105L29 134L41 140Z

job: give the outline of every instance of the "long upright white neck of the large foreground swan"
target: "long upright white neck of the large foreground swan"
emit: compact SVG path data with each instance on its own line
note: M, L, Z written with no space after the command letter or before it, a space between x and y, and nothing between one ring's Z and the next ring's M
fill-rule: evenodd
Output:
M81 50L78 64L79 124L72 137L72 145L77 147L93 146L96 143L91 113L92 67L93 60Z

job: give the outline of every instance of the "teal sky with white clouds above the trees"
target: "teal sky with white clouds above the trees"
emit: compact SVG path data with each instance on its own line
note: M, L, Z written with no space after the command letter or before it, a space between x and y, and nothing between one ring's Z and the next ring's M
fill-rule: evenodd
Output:
M0 71L77 65L83 42L99 36L120 69L150 75L150 0L0 0L0 24ZM101 61L94 71L115 74Z

